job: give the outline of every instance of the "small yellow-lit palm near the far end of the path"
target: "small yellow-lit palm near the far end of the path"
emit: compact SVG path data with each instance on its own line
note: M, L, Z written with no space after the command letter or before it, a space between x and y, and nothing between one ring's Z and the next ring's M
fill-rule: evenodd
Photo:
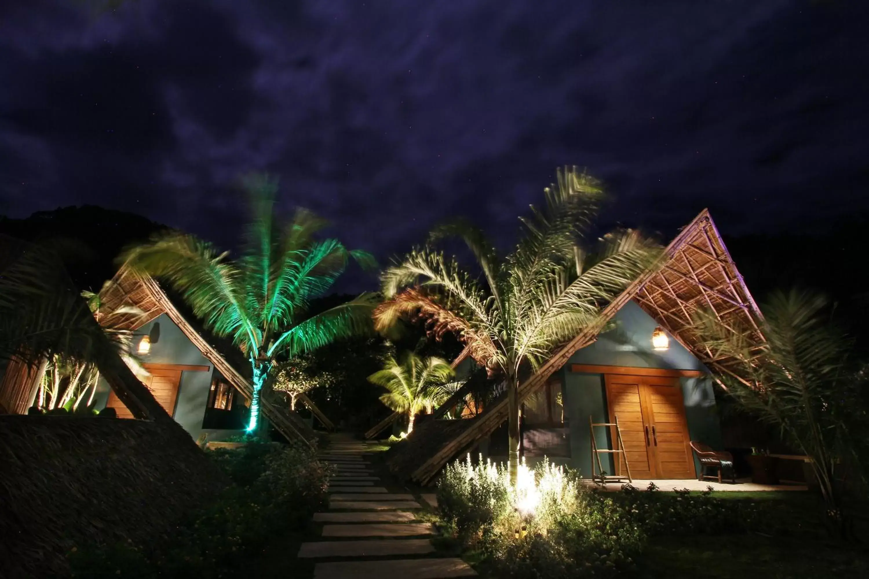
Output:
M452 377L453 369L446 360L434 356L422 359L415 352L407 352L400 362L390 356L383 369L368 376L368 381L387 389L381 402L390 410L408 413L410 434L418 413L431 412L449 398L447 383Z

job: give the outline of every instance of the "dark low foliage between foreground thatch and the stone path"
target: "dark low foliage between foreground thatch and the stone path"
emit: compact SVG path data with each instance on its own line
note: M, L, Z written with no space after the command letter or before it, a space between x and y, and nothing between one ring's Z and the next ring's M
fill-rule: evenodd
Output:
M329 470L308 447L249 439L209 454L232 481L215 501L149 544L74 549L74 577L244 577L262 547L325 502Z

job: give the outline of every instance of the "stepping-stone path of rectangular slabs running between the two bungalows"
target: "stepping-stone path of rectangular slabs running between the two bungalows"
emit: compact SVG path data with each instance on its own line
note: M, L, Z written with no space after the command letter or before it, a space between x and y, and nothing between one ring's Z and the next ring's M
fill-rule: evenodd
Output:
M382 484L368 461L371 453L380 449L346 435L342 438L334 434L330 438L328 448L319 457L337 474L329 481L328 512L314 515L315 523L323 523L323 540L302 543L299 557L339 561L315 563L315 579L449 579L476 575L459 558L437 556L427 538L434 535L434 527L417 520L412 510L422 505L413 494ZM372 561L367 557L384 558ZM344 558L349 561L340 561Z

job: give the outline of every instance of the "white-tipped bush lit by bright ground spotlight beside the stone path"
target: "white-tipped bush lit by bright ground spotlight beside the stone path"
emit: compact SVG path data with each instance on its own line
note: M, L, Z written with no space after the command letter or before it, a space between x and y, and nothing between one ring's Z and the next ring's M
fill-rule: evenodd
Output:
M521 464L516 484L505 465L450 464L438 508L499 577L606 576L629 567L644 539L612 500L545 459L533 470Z

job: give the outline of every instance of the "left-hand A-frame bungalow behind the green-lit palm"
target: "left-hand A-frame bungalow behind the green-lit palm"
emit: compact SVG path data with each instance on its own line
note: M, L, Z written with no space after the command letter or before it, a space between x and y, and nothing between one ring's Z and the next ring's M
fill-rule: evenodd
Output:
M210 442L243 431L253 391L249 363L229 340L210 334L157 280L127 266L106 284L100 302L97 319L133 332L133 353L149 373L146 385L184 430ZM297 400L324 426L334 428L310 398L302 394ZM97 408L114 407L118 417L130 416L108 388L97 391L96 401ZM261 405L262 416L285 438L313 442L310 426L279 395L264 391Z

